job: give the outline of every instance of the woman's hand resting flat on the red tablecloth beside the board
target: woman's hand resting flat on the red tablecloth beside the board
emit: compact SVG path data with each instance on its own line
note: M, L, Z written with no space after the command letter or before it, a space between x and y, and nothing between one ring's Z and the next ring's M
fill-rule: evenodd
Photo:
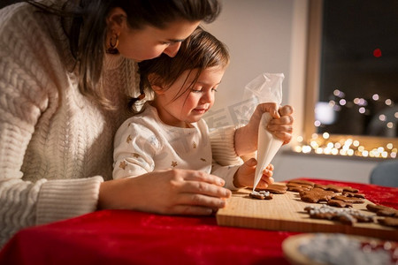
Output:
M226 206L231 191L222 178L196 170L158 170L101 184L98 208L165 215L210 215Z

